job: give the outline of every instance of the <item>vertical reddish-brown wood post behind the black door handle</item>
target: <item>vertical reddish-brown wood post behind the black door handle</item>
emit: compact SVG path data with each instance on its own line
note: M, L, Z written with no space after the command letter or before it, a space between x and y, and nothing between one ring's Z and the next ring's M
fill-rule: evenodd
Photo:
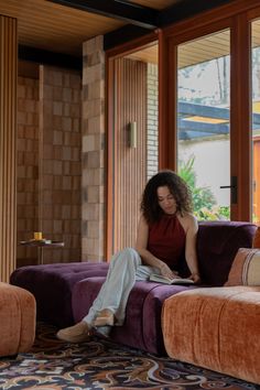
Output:
M238 177L238 202L231 204L232 220L251 219L251 88L250 25L246 14L231 29L230 144L231 175Z

